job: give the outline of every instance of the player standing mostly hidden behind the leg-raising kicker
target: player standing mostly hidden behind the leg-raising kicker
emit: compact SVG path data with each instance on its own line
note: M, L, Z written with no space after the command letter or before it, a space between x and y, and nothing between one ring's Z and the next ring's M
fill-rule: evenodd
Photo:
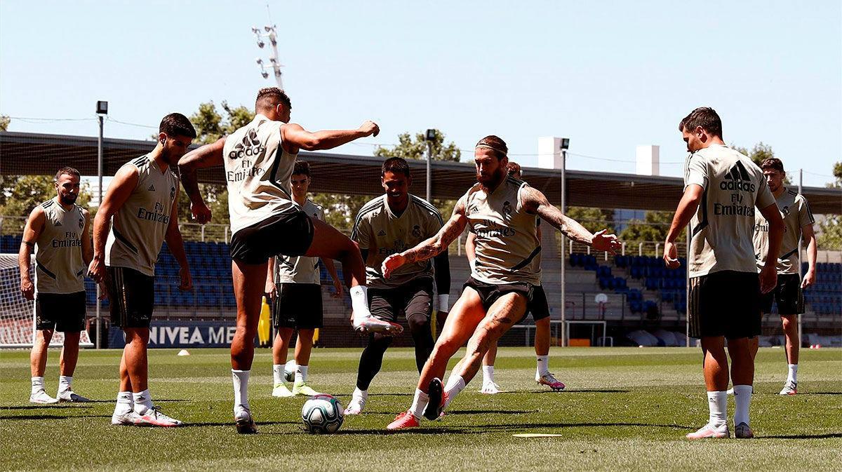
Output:
M292 199L315 220L324 221L324 210L307 199L310 187L310 164L296 161L290 178ZM322 327L322 280L319 276L317 257L278 256L269 259L266 271L266 294L272 300L272 325L277 330L272 343L272 396L318 395L306 384L313 347L313 333ZM334 298L342 296L342 283L333 265L333 259L322 259L324 267L333 278ZM284 364L290 339L298 331L296 342L292 390L284 384Z

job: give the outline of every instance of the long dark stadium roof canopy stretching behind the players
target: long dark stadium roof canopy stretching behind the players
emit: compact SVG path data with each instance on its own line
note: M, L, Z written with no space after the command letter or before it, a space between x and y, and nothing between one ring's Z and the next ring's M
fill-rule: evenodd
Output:
M125 162L152 150L153 141L104 139L105 176L114 175ZM381 158L325 152L301 152L310 162L313 192L331 194L381 194ZM52 174L63 166L76 167L83 175L97 175L97 138L35 133L0 133L0 175ZM424 161L410 161L413 194L424 195ZM224 183L222 168L200 172L200 181ZM524 178L541 189L554 204L561 201L558 170L524 167ZM653 177L616 172L568 170L568 205L605 209L673 210L682 191L681 178ZM433 162L432 194L438 199L457 199L474 182L468 162ZM842 213L842 190L805 187L803 194L814 213Z

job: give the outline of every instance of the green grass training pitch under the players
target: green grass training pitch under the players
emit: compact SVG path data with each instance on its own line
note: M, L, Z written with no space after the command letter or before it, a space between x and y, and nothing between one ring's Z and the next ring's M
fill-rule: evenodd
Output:
M316 349L310 377L346 403L359 349ZM752 440L688 442L707 419L701 353L683 348L553 348L551 368L568 390L532 381L531 348L501 348L498 383L482 395L479 379L439 422L387 433L412 400L417 372L410 349L386 353L364 416L338 434L302 432L304 398L271 397L271 357L259 349L251 403L260 434L232 425L228 352L150 352L153 399L179 428L112 427L120 351L83 351L74 389L85 405L29 405L29 353L0 352L2 470L839 470L842 451L842 350L802 350L799 395L777 395L786 364L781 349L761 349L755 374ZM456 359L454 359L455 361ZM55 394L58 352L46 384ZM733 414L730 400L729 416ZM554 438L513 438L546 432Z

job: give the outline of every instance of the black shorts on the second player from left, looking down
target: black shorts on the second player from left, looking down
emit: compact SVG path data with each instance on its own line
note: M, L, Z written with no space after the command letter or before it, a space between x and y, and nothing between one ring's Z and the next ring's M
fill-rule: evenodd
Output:
M148 328L155 309L155 278L133 268L106 267L111 324Z

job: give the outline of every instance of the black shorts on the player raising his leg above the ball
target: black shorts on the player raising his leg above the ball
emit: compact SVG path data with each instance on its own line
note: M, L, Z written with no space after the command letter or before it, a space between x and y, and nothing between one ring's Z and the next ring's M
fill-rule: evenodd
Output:
M313 222L301 210L269 216L231 236L231 258L262 264L279 254L303 256L313 241Z

